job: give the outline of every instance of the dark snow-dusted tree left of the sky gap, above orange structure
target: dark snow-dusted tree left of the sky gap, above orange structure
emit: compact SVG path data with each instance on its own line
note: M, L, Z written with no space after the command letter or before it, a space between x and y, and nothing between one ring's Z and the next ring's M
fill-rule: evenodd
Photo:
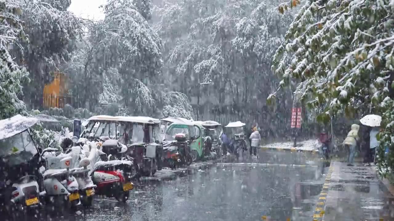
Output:
M70 59L73 43L81 33L79 20L65 0L19 1L28 42L18 42L24 50L14 51L17 61L30 73L31 82L24 85L25 100L32 107L41 107L43 87L52 81L52 74L61 71ZM54 4L54 5L52 5Z

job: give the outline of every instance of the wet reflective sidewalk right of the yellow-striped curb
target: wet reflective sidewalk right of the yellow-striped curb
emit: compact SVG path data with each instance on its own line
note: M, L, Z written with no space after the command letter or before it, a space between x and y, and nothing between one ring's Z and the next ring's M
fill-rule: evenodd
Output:
M374 167L346 164L331 163L332 173L327 175L321 193L321 198L326 198L321 205L324 210L317 208L314 220L394 220L394 196L377 177Z

